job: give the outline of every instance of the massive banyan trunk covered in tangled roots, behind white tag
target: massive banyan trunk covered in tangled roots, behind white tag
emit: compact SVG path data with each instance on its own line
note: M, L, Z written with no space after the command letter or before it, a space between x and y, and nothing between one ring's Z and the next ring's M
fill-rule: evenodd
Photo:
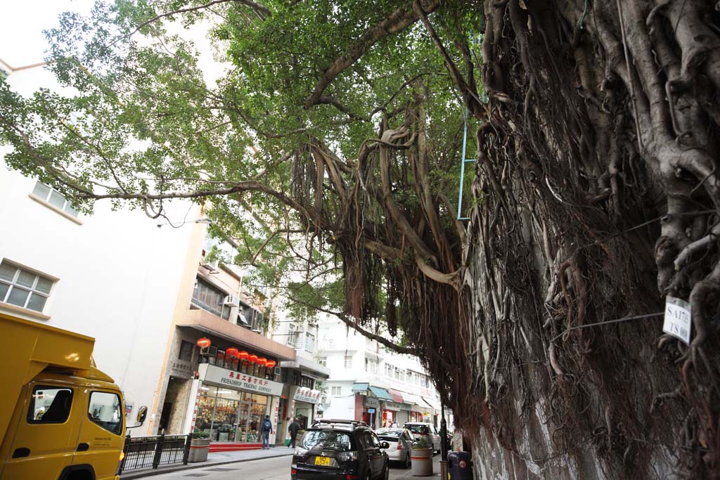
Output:
M719 14L482 4L459 400L476 478L719 478ZM692 304L689 347L662 332L666 295Z

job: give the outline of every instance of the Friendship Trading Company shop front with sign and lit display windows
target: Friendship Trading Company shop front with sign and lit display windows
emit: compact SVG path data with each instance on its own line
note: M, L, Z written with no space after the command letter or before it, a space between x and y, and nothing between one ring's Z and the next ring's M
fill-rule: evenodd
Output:
M259 448L260 425L277 425L282 384L203 363L198 369L192 430L210 435L210 451Z

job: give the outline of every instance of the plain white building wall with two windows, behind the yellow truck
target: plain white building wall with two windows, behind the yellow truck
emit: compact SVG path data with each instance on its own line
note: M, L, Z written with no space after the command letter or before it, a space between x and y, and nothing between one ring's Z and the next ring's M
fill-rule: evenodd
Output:
M20 94L55 84L41 67L7 81ZM57 191L6 168L8 151L0 147L0 310L94 337L94 359L134 417L156 397L191 230L112 212L109 202L79 214ZM191 207L175 202L168 215L182 219L191 209L187 218L197 219Z

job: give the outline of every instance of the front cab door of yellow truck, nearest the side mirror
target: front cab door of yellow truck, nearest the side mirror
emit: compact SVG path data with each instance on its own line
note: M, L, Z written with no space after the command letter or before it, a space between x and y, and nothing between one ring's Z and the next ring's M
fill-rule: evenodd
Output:
M83 418L73 468L92 466L96 480L114 479L125 445L122 402L117 391L85 389Z

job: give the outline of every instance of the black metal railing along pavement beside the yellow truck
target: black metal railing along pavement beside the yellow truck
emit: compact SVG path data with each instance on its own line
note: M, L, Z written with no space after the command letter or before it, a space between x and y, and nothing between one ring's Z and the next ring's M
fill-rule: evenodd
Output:
M190 435L156 435L152 437L125 437L125 458L118 473L158 468L161 465L187 465L190 454Z

